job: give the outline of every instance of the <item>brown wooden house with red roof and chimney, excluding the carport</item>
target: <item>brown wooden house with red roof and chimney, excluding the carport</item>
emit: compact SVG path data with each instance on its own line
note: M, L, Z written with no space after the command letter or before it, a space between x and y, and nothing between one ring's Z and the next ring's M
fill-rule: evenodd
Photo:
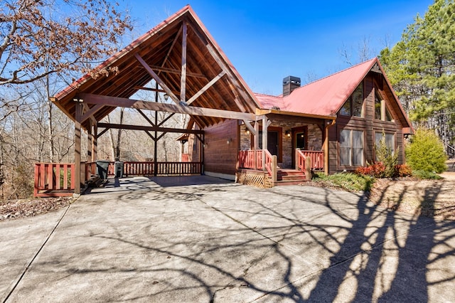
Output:
M257 112L267 119L267 150L277 156L280 169L298 168L296 149L300 149L307 155L319 151L316 159L320 163L313 169L328 174L353 171L375 161L375 145L384 135L387 147L399 153L399 163L405 162L404 137L412 132L412 126L378 58L314 83L300 84L300 78L289 76L283 80L282 95L255 94L260 106ZM262 137L262 123L258 129ZM204 130L206 154L215 153L211 141L217 142L215 148L223 144L218 142L232 142L240 150L240 163L234 150L231 157L228 151L223 155L223 165L207 156L206 174L232 177L237 173L237 179L242 179L248 172L242 168L252 169L241 159L242 151L255 145L249 125L241 122L236 129L235 122L226 121ZM262 149L261 143L259 140L257 149Z

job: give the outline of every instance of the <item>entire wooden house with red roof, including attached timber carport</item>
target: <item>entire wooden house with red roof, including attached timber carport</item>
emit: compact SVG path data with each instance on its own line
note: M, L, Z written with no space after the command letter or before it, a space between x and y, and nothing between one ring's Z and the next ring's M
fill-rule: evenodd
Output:
M139 90L155 92L155 99L132 99ZM147 165L153 169L146 174L186 174L189 161L191 172L237 176L238 181L252 180L259 186L278 184L291 174L284 169L298 168L308 177L308 169L331 174L364 166L374 159L374 143L382 129L403 162L403 136L411 129L376 58L302 87L299 78L284 78L280 96L254 94L191 6L52 100L75 122L74 171L81 171L72 179L75 193L87 179L83 167L97 160L97 138L112 128L146 132L154 142L166 132L184 135L180 139L188 144L182 149L185 161L160 164L155 144L154 161ZM144 120L132 125L104 122L116 107L134 108ZM146 110L168 116L151 121ZM185 128L166 127L175 113L191 117ZM88 137L86 154L81 150L82 130ZM141 174L141 166L134 165L135 174Z

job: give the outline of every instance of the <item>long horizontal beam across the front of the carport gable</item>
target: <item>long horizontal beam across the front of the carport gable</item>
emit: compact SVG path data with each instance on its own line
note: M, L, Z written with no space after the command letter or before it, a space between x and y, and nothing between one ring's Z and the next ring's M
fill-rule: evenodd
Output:
M178 106L160 102L150 102L134 100L122 97L110 97L92 94L80 94L79 96L85 103L89 104L103 104L113 107L130 107L139 108L141 110L156 110L159 112L176 112L179 114L187 114L193 116L207 116L218 117L225 119L239 119L255 121L257 117L255 114L248 112L233 112L230 110L217 110L213 108L193 107L193 106Z

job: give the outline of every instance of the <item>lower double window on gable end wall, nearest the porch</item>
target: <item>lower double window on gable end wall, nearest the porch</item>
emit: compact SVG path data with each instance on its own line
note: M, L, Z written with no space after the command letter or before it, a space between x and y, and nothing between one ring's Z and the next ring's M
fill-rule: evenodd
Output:
M363 166L363 131L354 129L341 130L340 165Z

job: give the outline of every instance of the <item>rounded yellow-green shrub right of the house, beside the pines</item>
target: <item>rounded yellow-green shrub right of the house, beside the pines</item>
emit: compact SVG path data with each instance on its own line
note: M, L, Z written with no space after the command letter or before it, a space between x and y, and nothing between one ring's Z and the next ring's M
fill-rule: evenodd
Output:
M407 164L413 171L434 171L439 174L447 169L444 144L430 129L417 129L405 152Z

